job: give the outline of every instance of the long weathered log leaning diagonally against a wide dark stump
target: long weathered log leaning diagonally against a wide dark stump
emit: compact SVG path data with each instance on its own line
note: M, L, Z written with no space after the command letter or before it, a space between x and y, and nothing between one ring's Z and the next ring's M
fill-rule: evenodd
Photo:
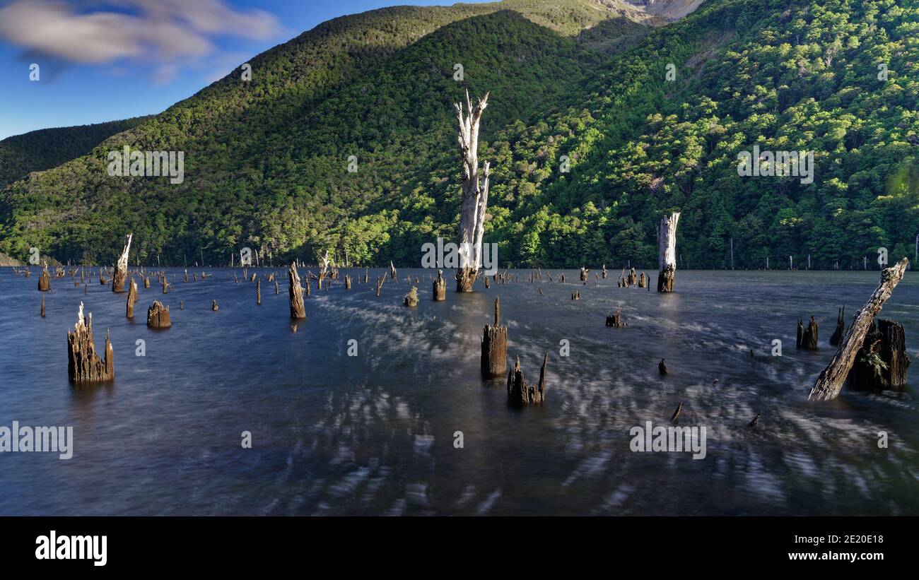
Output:
M823 369L823 373L820 374L817 382L811 388L809 399L823 401L833 399L839 395L839 391L845 383L845 377L848 376L852 364L856 361L858 351L865 343L865 337L868 335L868 330L871 329L871 323L884 306L884 303L891 297L893 289L897 287L897 284L900 284L908 263L909 260L903 258L895 266L881 271L878 289L868 298L865 306L858 311L855 321L845 333L842 344L839 345L833 355L833 360Z

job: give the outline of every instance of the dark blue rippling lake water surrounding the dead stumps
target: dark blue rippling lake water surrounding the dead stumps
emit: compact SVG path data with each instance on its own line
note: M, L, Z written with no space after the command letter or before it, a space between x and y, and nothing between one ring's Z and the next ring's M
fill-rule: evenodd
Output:
M53 279L40 318L40 269L0 269L0 426L74 428L70 460L0 453L0 515L919 515L917 367L905 394L807 401L837 308L848 321L877 272L678 271L672 295L619 289L618 271L588 286L575 271L566 284L562 271L536 284L516 271L518 283L458 295L445 273L447 301L434 302L431 271L400 270L377 297L383 271L371 270L350 291L313 285L296 332L282 269L259 271L280 280L279 296L263 281L261 306L255 284L208 272L186 284L167 270L166 296L155 278L140 284L130 321L127 295L97 278L88 296ZM406 275L421 278L416 308L402 305ZM495 296L529 381L549 352L542 407L508 407L505 380L480 378ZM153 300L170 306L171 329L146 328ZM111 330L112 384L68 383L81 301L97 350ZM618 306L629 327L606 328ZM796 351L811 315L821 350ZM903 324L919 358L919 276L906 273L880 316ZM707 429L706 457L631 452L630 429L667 425L680 402L680 425Z

